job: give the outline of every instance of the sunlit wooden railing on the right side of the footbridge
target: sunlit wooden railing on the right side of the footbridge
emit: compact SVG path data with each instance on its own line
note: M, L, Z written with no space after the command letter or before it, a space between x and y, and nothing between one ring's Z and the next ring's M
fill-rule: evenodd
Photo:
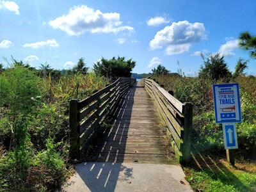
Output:
M179 163L188 163L191 156L192 104L175 99L173 92L166 92L152 79L141 79L141 82L154 100L166 131L170 133L171 145Z

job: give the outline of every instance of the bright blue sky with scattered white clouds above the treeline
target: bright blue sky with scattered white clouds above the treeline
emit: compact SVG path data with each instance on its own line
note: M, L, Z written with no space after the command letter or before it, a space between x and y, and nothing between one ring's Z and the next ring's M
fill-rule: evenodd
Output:
M246 73L256 75L256 60L237 46L239 33L256 35L255 24L255 0L0 0L0 63L13 56L62 69L125 56L136 73L161 64L195 76L200 52L220 52L231 71L250 59Z

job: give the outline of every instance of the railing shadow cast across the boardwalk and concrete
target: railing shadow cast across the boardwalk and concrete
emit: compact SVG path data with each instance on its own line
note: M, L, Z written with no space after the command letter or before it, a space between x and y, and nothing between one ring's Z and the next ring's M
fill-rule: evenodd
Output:
M127 168L121 163L124 162L136 88L137 86L132 86L129 92L121 98L118 108L110 118L109 125L111 126L107 126L100 132L99 143L95 145L92 155L87 159L93 163L88 162L75 166L77 174L86 185L86 187L81 186L81 189L75 190L114 191L121 172L124 182L132 178L132 168Z

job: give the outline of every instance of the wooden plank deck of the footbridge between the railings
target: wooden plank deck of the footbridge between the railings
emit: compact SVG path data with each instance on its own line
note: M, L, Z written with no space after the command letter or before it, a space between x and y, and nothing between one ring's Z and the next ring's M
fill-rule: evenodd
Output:
M120 102L109 126L93 148L90 161L170 164L163 130L154 104L141 83L132 86Z

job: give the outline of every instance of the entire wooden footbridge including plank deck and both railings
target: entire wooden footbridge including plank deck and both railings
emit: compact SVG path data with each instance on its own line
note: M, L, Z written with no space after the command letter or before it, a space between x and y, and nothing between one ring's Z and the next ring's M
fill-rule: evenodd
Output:
M170 164L161 138L167 133L179 162L188 163L192 106L170 93L152 79L123 77L91 97L71 100L72 157L90 151L86 161Z

